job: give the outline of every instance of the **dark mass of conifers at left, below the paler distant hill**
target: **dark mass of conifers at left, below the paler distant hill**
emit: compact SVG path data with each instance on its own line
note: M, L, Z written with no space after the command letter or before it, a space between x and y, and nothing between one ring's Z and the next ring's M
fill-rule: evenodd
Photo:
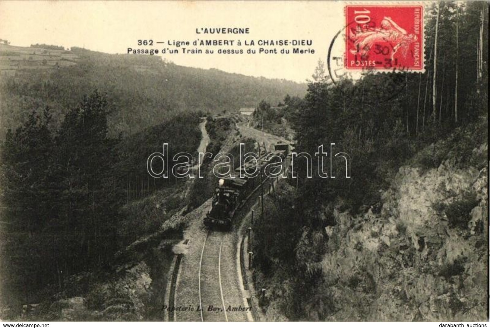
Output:
M46 107L7 131L0 176L2 301L38 300L42 290L62 290L73 274L107 270L114 252L143 225L143 217L133 222L124 232L129 239L118 233L127 221L122 206L172 185L148 176L148 155L163 151L164 143L171 145L169 156L196 151L201 138L198 113L128 138L109 136L108 115L107 97L95 90L57 129Z

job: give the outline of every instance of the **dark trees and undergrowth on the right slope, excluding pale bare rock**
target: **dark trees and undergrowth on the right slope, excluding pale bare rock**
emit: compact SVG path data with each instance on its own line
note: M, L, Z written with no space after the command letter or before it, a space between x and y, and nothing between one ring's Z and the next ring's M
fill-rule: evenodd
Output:
M375 213L380 213L386 201L382 200L385 192L394 188L392 182L400 166L412 163L421 174L432 168L437 169L449 156L454 157L451 163L456 168L475 167L485 172L488 166L486 152L475 159L478 153L475 149L488 139L488 3L445 1L427 9L425 73L366 74L359 80L343 79L334 85L320 61L304 99L292 101L288 97L281 107L272 108L265 102L257 107L254 116L266 122L275 122L285 116L290 118L296 134L295 151L314 154L319 145L326 145L329 149L330 143L335 143L334 154L344 151L351 158L350 178L345 178L343 158L333 160L335 178L319 178L315 160L312 170L314 177L305 178L305 164L298 164L299 178L292 183L293 186L298 185L297 190L285 193L277 202L270 202L264 220L253 227L257 234L253 247L254 259L260 269L255 272L256 287L273 290L268 298L262 300L265 309L274 307L275 311L279 310L290 320L333 320L335 313L348 312L349 306L352 306L350 311L354 312L350 313L356 313L357 317L350 314L350 317L339 320L403 320L394 314L394 317L380 319L383 317L376 315L386 314L384 311L388 307L383 312L369 313L369 304L375 304L373 300L380 295L381 287L377 294L373 287L373 277L380 274L376 274L379 271L374 271L373 267L380 266L376 263L383 261L382 254L386 252L387 257L391 254L400 256L407 251L399 251L393 244L390 248L381 242L385 249L380 249L377 253L379 257L365 264L366 267L346 270L348 275L345 274L345 282L342 275L334 280L325 263L329 263L328 258L335 258L337 251L342 255L339 255L341 259L337 266L332 260L335 270L344 261L342 258L348 258L347 254L354 257L354 263L356 256L359 262L362 262L363 256L371 256L366 255L367 251L363 253L363 240L358 241L356 250L339 250L342 238L349 239L342 233L346 234L345 231L351 228L349 233L354 234L353 231L362 229L363 224L366 227L375 226L375 223L369 222L369 218L374 220L373 216L376 215L379 217L377 220L389 226L387 220L390 215L396 214L390 214L387 210L383 214ZM414 157L419 151L418 157ZM330 176L328 165L325 171ZM435 217L442 216L440 222L449 220L449 227L456 229L452 232L454 234L465 238L475 235L469 229L469 212L477 206L479 198L471 192L451 195L454 201L451 203L448 199L448 204L438 204ZM485 202L484 198L482 202ZM344 216L339 214L344 212L347 213ZM337 213L335 217L334 213ZM345 217L352 217L350 220L353 221L339 223L339 218ZM356 218L359 224L356 224ZM363 221L364 218L368 218L368 221ZM346 227L344 230L341 229L343 225ZM458 230L461 228L463 230ZM329 229L341 235L328 238L325 231ZM407 237L410 243L416 236L403 223L399 223L397 229L396 238L400 240L401 236L413 233L409 235L410 238ZM480 234L474 237L478 240L474 254L485 252L484 229L479 231ZM368 238L379 239L379 236L378 230L368 233ZM388 237L383 238L389 240ZM420 243L424 241L424 237L418 238ZM434 247L437 250L441 245L438 239ZM348 253L350 251L353 255ZM411 256L403 258L403 265L414 265L417 256ZM384 261L393 267L399 265L390 260ZM464 273L471 270L467 268L479 262L465 261L469 259L461 257L439 270L435 260L434 266L424 268L426 271L420 274L433 274L436 279L442 279L443 284L453 281L453 276L461 274L466 277ZM386 268L386 263L379 270ZM462 263L466 263L466 266ZM415 277L415 272L411 276ZM389 285L389 279L384 281ZM401 281L399 283L407 283L407 279ZM456 297L454 295L458 294L451 294L451 300ZM402 298L401 303L408 300ZM480 301L484 303L485 300L482 298ZM349 305L349 302L355 304ZM469 302L463 306L459 299L459 303L451 302L450 311L454 315L458 312L464 315L465 306L480 306ZM274 310L270 313L277 313ZM427 319L416 317L415 320Z

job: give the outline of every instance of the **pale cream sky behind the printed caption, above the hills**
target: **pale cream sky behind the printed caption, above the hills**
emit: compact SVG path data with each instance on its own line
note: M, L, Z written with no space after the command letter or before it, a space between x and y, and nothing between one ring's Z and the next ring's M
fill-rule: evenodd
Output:
M343 5L340 1L0 0L0 38L15 46L45 43L107 53L138 48L138 39L311 39L313 46L303 48L312 48L315 54L224 55L215 51L213 55L163 55L183 66L304 82L311 78L319 58L326 60L332 37L343 28ZM248 27L250 33L197 35L200 27Z

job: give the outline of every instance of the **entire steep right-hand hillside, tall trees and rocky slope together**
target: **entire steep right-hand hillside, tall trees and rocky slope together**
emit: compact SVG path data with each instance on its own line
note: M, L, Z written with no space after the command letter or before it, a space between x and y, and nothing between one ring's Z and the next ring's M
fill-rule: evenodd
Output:
M487 320L488 3L428 9L425 73L333 85L320 63L288 108L296 151L335 143L351 177L298 163L253 227L268 320Z

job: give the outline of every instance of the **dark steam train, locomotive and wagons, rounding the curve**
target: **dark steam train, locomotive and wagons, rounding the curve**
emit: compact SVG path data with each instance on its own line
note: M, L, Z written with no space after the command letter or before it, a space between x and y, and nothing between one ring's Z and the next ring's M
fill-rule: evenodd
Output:
M273 154L281 156L283 159L288 155L289 145L278 144L274 146ZM220 227L224 229L231 229L233 224L233 217L235 212L245 203L247 197L260 186L261 180L265 180L264 168L272 161L277 161L277 156L269 156L267 160L265 151L261 154L260 160L260 175L255 177L240 177L242 172L255 171L255 161L250 160L245 162L244 165L235 169L235 177L225 177L218 181L218 187L216 188L211 210L204 218L204 225L207 227Z

